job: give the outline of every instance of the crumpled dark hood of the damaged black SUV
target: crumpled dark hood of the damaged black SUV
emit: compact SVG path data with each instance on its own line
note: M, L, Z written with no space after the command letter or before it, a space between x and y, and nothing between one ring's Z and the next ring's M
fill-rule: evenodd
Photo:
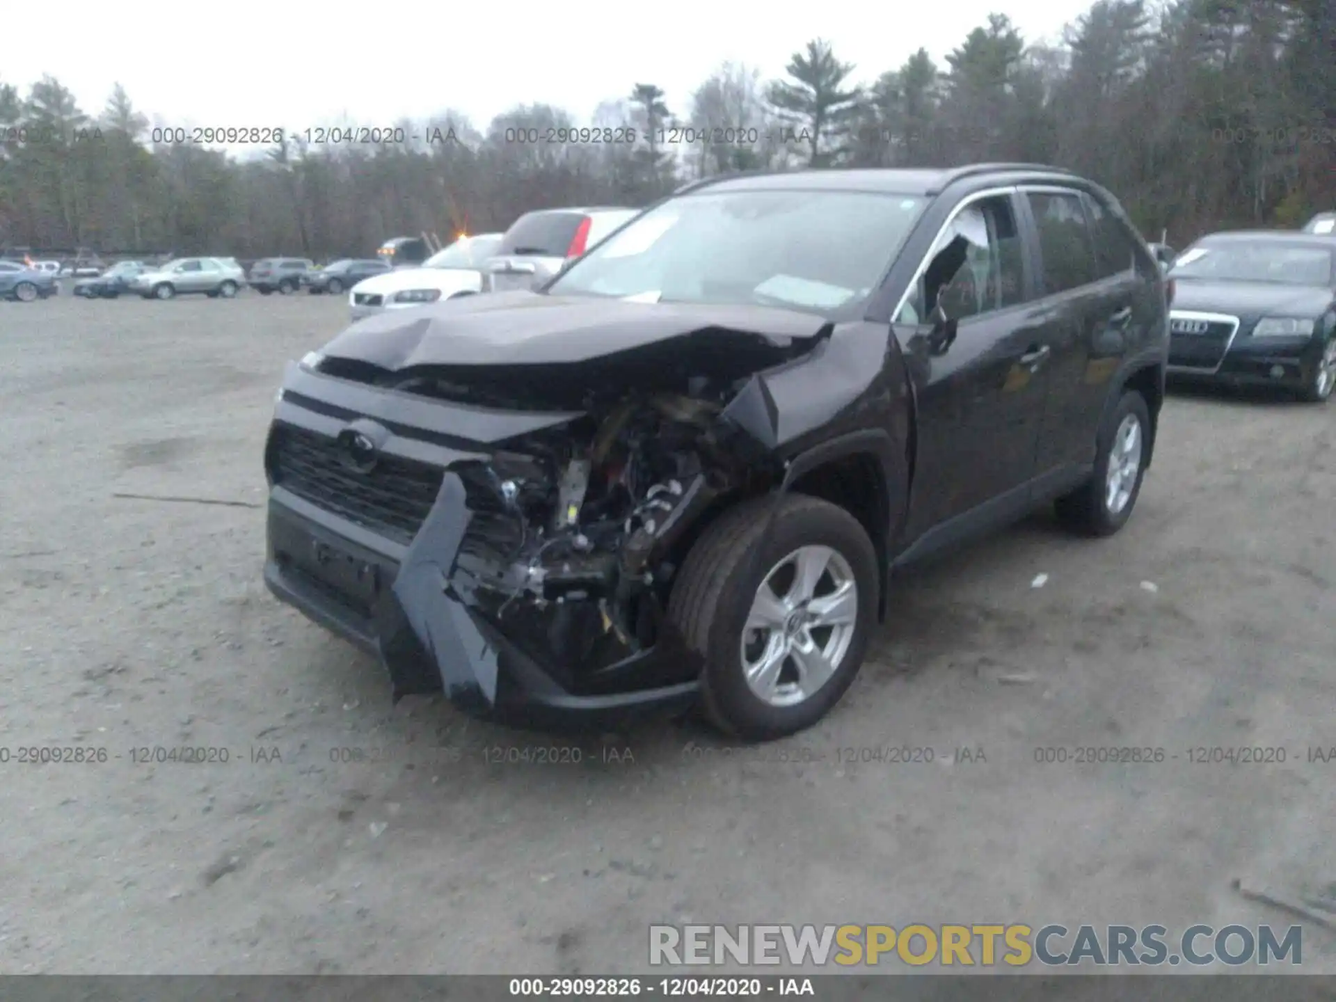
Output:
M358 291L366 291L366 283ZM770 306L637 303L530 291L470 295L353 325L323 354L386 370L582 362L699 335L774 354L823 334L820 317Z

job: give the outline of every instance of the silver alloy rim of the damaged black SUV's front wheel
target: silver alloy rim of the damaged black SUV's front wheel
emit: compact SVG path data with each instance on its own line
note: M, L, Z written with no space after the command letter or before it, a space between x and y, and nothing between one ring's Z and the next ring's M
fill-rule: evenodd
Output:
M747 685L772 707L811 699L839 669L856 628L858 581L848 561L830 546L798 548L770 569L747 613Z

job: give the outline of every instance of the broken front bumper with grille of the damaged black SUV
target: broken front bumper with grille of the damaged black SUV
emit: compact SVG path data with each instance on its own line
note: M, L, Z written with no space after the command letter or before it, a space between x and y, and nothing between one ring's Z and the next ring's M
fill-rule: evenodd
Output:
M444 691L472 715L541 728L687 709L700 665L661 617L643 644L595 603L508 599L485 580L506 569L480 546L485 516L453 469L489 440L561 418L405 402L293 366L266 458L267 587L381 660L395 699ZM378 440L383 490L318 457L350 428Z

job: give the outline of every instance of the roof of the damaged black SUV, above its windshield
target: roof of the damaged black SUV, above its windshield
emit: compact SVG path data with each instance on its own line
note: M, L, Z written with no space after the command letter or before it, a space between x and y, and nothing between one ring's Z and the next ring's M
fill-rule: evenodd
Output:
M888 195L939 195L951 184L977 179L997 184L1021 182L1082 182L1085 179L1061 167L1038 163L975 163L963 167L836 168L808 171L760 171L733 174L685 184L675 194L684 195L703 188L715 191L870 191Z

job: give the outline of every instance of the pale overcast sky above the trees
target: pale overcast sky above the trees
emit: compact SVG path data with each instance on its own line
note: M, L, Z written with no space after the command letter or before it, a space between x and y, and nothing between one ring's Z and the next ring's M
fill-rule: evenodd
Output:
M17 1L17 0L11 0ZM672 111L724 60L783 72L824 37L870 81L926 47L939 60L990 11L1029 41L1053 40L1088 0L820 0L766 5L426 3L39 5L55 19L4 45L0 80L24 94L43 73L100 112L115 83L155 124L299 131L346 116L357 126L425 119L446 107L485 128L518 103L546 102L581 122L601 102L655 83ZM45 17L45 15L43 15ZM19 39L9 39L11 43Z

